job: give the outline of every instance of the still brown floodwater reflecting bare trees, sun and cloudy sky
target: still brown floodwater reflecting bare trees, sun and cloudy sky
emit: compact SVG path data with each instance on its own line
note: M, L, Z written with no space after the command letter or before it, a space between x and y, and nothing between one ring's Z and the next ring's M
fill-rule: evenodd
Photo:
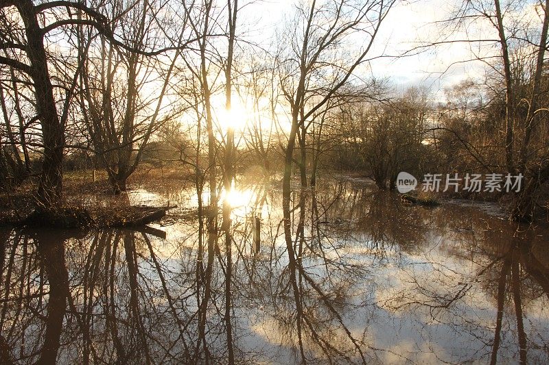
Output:
M546 229L349 179L294 191L289 232L278 184L221 196L230 245L173 186L126 197L177 205L147 229L0 231L0 362L549 362Z

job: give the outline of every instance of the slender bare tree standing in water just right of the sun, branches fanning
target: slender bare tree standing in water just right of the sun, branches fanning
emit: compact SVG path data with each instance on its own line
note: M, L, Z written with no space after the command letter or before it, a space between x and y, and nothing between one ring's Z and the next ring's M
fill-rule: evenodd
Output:
M342 86L349 83L351 76L361 64L368 61L368 55L382 22L394 1L312 1L296 9L296 15L288 24L288 34L282 40L277 55L280 86L290 105L292 115L288 144L285 147L283 175L283 211L285 241L290 263L295 266L296 255L290 229L290 179L294 162L296 137L303 125L320 112L323 106ZM339 54L344 45L365 37L359 51L353 54ZM288 47L290 45L290 47ZM301 142L303 149L303 142ZM304 161L301 161L303 166ZM302 167L303 168L303 167ZM302 184L306 184L303 181ZM296 277L290 278L294 292L298 291Z

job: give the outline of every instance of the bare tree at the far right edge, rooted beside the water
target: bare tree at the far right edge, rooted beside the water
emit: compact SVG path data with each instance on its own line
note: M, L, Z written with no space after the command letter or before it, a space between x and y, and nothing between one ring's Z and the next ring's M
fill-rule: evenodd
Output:
M487 64L500 78L500 84L493 82L498 99L498 88L504 90L504 134L500 145L503 146L504 166L496 169L510 174L522 174L526 185L515 197L512 216L521 221L531 221L535 211L535 201L539 190L549 181L549 164L544 137L534 136L534 131L543 132L547 108L544 103L545 54L549 27L549 2L539 1L532 4L537 16L525 21L513 14L520 14L526 3L513 1L467 1L459 5L456 14L447 24L452 34L457 29L466 29L469 25L480 25L479 29L493 29L495 39L484 34L456 40L452 37L435 42L436 45L449 42L469 42L476 45L495 45L497 53L491 54L486 47L479 47L482 53L474 52L474 60ZM469 38L467 37L469 36ZM431 43L430 46L433 44ZM495 63L497 58L500 62ZM527 66L531 62L532 66ZM540 105L541 104L541 105ZM545 144L545 145L544 145ZM492 165L498 165L492 156ZM490 164L490 162L489 162ZM488 167L488 166L485 166Z

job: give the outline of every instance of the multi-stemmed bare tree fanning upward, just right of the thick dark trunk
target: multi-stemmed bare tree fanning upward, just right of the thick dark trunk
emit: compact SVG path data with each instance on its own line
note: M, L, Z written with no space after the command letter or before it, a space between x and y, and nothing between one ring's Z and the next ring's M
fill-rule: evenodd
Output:
M170 97L174 66L186 42L186 19L185 13L172 19L155 15L170 10L168 5L145 1L124 9L121 2L113 3L111 17L116 22L111 27L121 33L131 49L107 44L100 36L94 44L97 51L91 49L81 55L85 65L80 77L84 125L117 194L126 190L126 181L141 161L152 134L180 114L173 103L165 108L165 99ZM167 27L169 22L180 27L174 34L175 51L155 58L133 51L156 48L159 33L174 33ZM81 29L78 48L90 47L95 38L93 32L84 35Z

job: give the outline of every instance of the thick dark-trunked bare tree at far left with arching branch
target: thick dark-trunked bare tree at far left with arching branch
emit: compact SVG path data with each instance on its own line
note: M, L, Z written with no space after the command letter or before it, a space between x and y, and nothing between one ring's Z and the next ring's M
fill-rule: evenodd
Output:
M54 97L47 53L47 40L50 32L59 27L68 27L77 23L86 23L106 31L106 18L88 8L83 3L71 1L51 1L38 5L30 0L0 2L2 12L10 12L18 22L23 23L24 32L10 32L3 29L1 48L5 56L0 56L0 64L10 66L17 73L26 74L32 79L36 101L36 118L40 121L43 144L43 166L37 197L43 205L57 203L62 194L63 150L65 148L65 125L72 88L65 90L62 110L58 110L58 100ZM60 9L65 9L65 14ZM83 19L73 19L71 11L84 12ZM45 16L45 14L53 16ZM53 22L45 19L54 18Z

